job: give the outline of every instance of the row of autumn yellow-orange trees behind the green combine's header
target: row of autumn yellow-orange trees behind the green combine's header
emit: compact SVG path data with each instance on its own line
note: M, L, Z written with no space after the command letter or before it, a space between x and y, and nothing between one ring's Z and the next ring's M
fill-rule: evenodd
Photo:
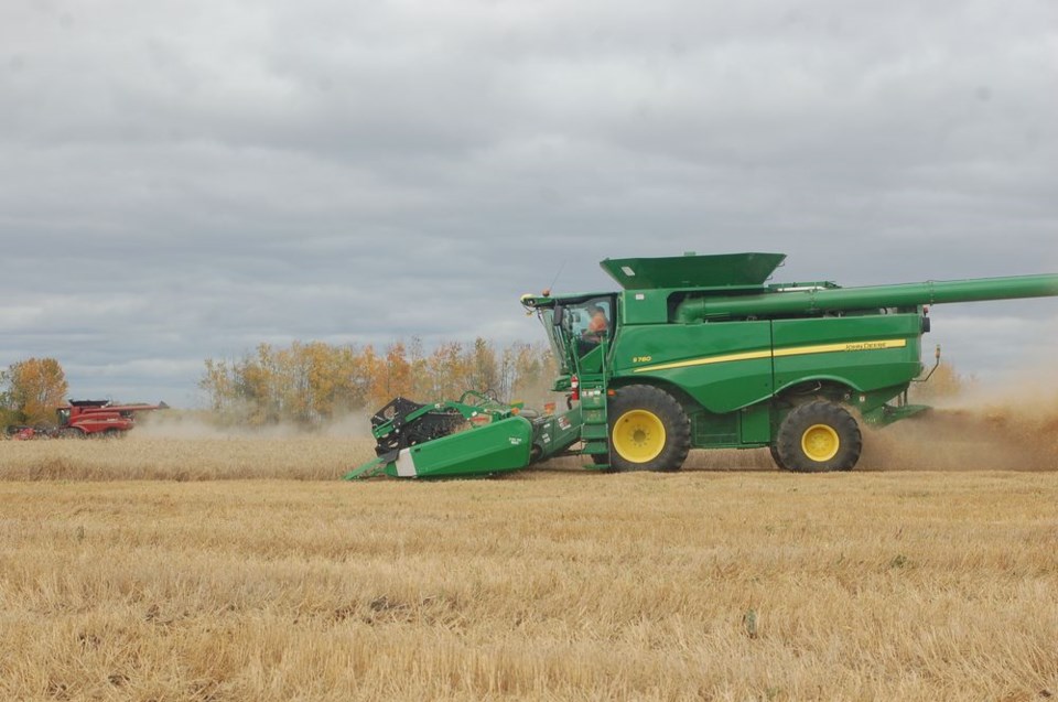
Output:
M444 342L428 353L418 338L382 350L294 342L260 344L239 359L206 359L198 387L223 423L312 425L378 410L398 396L431 402L477 390L539 402L553 376L546 345L497 347L478 337L473 344Z

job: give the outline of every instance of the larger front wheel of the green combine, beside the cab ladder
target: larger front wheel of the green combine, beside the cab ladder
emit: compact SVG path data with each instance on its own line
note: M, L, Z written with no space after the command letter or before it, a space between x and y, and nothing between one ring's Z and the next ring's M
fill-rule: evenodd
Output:
M691 424L671 395L648 385L617 389L609 402L611 465L616 471L679 471Z

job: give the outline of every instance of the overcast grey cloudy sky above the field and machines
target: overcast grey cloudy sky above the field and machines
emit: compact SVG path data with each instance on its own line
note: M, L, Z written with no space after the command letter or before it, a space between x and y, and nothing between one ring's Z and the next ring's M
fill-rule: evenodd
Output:
M0 366L193 407L260 342L540 341L605 257L1058 272L1056 164L1054 0L3 0ZM1058 343L933 317L979 377Z

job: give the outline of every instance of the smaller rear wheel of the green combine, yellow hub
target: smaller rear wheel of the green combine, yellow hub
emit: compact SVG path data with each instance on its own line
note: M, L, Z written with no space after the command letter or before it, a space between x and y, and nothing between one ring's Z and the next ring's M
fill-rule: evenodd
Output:
M796 473L851 471L860 460L863 436L849 410L828 400L795 408L779 425L773 455L779 467Z

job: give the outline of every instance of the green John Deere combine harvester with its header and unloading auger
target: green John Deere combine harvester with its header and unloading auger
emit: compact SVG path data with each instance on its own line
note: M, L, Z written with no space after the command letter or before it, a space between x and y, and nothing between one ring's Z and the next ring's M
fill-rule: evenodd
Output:
M929 305L1058 295L1058 276L768 283L785 258L606 259L620 292L525 295L551 342L564 411L476 392L397 398L371 418L377 457L345 477L483 476L559 455L678 471L691 449L763 447L786 471L851 471L861 423L928 409L907 389L924 372Z

